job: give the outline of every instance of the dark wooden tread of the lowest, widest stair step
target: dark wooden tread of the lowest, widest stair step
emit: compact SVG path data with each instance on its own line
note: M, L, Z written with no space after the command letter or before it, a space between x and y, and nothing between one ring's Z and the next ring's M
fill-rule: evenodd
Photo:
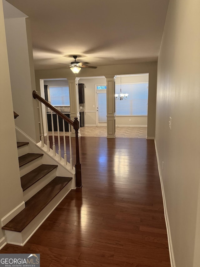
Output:
M22 230L42 211L43 208L72 180L72 177L55 177L32 198L25 202L25 208L2 227L4 230Z

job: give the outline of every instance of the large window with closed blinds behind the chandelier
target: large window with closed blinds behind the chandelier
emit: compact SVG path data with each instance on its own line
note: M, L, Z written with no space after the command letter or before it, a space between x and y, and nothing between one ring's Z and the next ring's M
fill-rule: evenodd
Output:
M122 84L122 93L128 94L126 100L116 100L116 115L147 116L148 82ZM115 93L119 94L120 84L115 85Z

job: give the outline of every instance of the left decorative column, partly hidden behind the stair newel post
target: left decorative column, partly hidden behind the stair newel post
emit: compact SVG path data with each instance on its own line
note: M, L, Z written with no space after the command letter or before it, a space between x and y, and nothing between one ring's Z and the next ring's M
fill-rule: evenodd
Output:
M70 119L74 121L74 118L78 118L80 124L79 113L79 97L78 97L78 80L79 78L69 77L67 78L69 85L69 101L70 101ZM81 136L78 130L78 136ZM72 127L72 137L75 137L75 131Z

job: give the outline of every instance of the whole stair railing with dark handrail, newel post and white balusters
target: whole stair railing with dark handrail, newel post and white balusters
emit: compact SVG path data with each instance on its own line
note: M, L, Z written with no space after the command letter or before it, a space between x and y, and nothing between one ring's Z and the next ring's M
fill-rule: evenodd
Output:
M69 124L69 153L70 153L70 168L73 169L72 165L72 141L71 141L71 126L73 126L75 130L75 140L76 140L76 187L82 187L82 179L81 179L81 163L79 159L79 144L78 144L78 129L79 129L79 121L78 118L74 118L74 121L65 116L62 112L57 110L53 105L49 104L45 99L43 99L40 95L36 93L34 90L32 92L33 98L39 100L39 113L40 113L40 129L41 129L41 143L42 147L44 147L44 130L43 130L43 120L42 120L42 104L47 106L51 110L51 121L52 121L52 139L53 139L53 156L56 156L56 147L55 147L55 135L54 135L54 126L53 126L53 112L57 114L57 126L58 126L58 160L61 161L61 146L60 146L60 131L58 124L58 116L63 119L63 141L64 141L64 165L67 165L67 154L66 154L66 140L65 140L65 124L66 121ZM45 112L46 113L46 112ZM47 113L46 113L46 122L47 122ZM49 142L49 132L48 132L48 124L46 123L47 128L47 152L50 151L50 142Z

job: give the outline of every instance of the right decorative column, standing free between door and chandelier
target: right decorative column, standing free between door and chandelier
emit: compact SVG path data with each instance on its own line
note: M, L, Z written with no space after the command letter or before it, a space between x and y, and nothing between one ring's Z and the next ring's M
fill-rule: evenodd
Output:
M115 138L115 79L117 76L105 77L107 87L107 138Z

